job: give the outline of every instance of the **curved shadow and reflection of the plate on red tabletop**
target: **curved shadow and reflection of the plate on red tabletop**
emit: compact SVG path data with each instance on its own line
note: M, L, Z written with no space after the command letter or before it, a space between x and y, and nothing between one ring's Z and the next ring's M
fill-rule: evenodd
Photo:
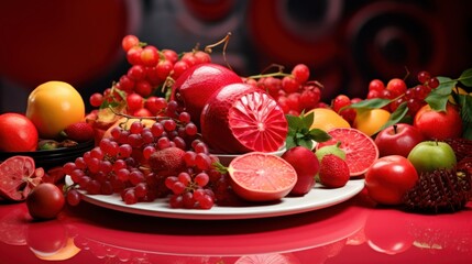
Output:
M85 215L91 216L89 221L94 226L89 226L91 223L89 221L74 219L67 226L77 230L78 237L130 251L158 254L253 255L310 250L356 233L363 228L366 215L359 208L350 208L350 205L352 202L347 201L338 208L283 218L193 221L123 215L108 210L107 217L103 218L98 217L98 212L105 209L85 204L73 213L78 219ZM112 229L100 228L108 224L109 219L116 218L120 218L121 221L116 222ZM127 224L130 220L140 222L140 226L130 227ZM130 232L135 235L129 238ZM182 239L182 235L186 239Z

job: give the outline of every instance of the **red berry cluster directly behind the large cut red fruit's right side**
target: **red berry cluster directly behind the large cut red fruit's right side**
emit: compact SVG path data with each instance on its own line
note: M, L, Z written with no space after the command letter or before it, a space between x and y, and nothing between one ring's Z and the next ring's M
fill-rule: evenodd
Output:
M285 113L298 116L319 107L322 86L318 81L309 80L310 72L305 64L298 64L288 75L282 78L266 76L257 80L249 78L246 81L266 90Z

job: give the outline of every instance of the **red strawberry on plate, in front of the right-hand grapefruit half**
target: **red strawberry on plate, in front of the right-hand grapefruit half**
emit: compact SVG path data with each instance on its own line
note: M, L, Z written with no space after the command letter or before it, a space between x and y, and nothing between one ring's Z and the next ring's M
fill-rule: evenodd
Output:
M321 160L319 180L328 188L344 186L350 179L348 164L334 154L327 154Z

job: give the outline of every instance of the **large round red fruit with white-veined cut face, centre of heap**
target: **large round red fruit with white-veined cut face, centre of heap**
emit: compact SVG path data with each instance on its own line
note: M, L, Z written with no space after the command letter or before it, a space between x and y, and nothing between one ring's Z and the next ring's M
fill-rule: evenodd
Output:
M246 84L216 92L201 111L201 134L213 153L275 152L285 143L288 123L278 103Z

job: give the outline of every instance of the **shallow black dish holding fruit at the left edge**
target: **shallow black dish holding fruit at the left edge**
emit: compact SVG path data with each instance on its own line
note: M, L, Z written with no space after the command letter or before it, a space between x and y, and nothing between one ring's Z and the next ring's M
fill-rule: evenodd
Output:
M36 167L48 169L55 166L62 166L68 162L74 162L84 153L94 148L95 142L87 141L70 147L59 147L48 151L35 152L0 152L0 161L6 161L12 156L30 156L34 160Z

